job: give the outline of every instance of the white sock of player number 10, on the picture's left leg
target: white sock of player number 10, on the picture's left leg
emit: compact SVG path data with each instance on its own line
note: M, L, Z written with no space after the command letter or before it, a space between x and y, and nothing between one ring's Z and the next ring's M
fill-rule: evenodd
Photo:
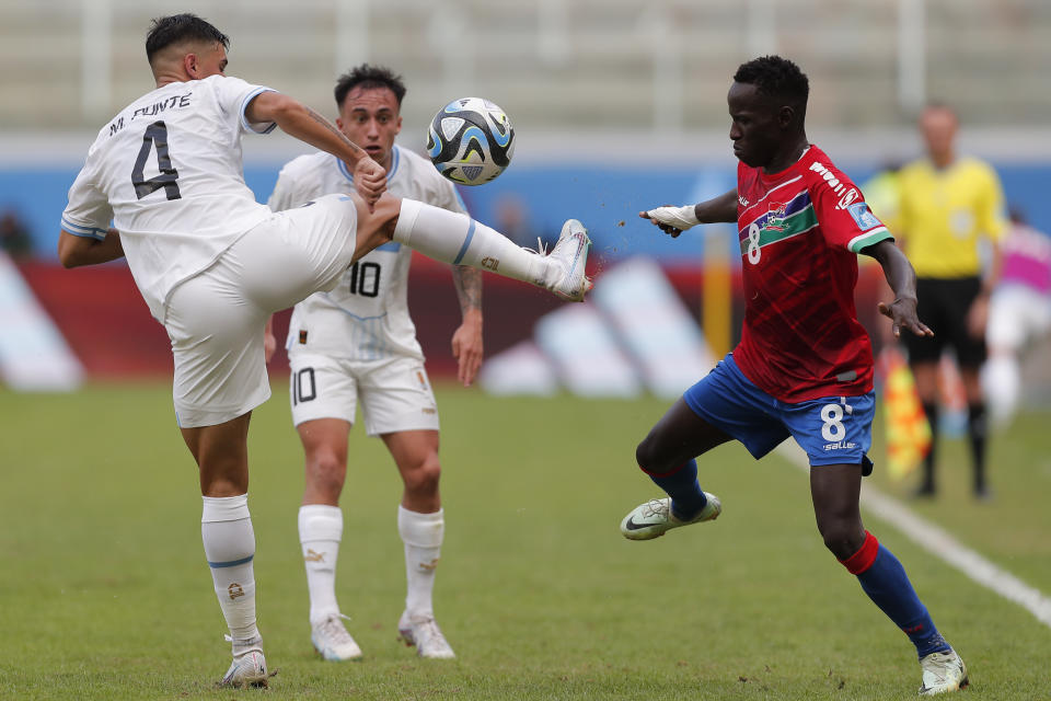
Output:
M338 506L308 504L299 507L299 542L303 547L307 589L310 591L310 624L339 613L336 604L336 558L343 538L343 512Z

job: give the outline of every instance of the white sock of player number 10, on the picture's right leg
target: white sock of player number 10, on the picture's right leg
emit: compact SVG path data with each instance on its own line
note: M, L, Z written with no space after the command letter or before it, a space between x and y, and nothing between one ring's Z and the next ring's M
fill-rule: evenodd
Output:
M444 512L419 514L399 505L397 532L405 543L405 578L408 584L405 610L413 619L434 618L431 594L446 535Z

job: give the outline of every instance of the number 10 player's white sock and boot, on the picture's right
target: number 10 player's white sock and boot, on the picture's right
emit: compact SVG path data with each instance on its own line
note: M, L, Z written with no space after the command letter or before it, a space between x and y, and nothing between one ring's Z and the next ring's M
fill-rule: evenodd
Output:
M452 659L457 655L435 621L432 604L435 570L446 532L444 512L421 514L399 506L397 532L405 543L407 583L405 611L397 621L399 635L406 645L415 645L420 657Z

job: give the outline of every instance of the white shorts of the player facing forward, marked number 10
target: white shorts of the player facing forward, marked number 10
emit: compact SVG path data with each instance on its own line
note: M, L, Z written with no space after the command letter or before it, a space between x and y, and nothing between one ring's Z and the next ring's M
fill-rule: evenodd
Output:
M354 424L358 400L370 436L438 430L438 407L427 371L416 358L342 360L290 353L292 423L342 418Z

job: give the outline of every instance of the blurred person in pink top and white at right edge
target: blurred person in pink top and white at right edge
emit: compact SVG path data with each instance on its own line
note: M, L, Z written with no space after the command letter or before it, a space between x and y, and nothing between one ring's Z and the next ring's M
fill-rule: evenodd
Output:
M982 387L993 421L1005 425L1021 398L1021 355L1051 332L1051 237L1013 210L1001 254L1000 284L989 302Z

